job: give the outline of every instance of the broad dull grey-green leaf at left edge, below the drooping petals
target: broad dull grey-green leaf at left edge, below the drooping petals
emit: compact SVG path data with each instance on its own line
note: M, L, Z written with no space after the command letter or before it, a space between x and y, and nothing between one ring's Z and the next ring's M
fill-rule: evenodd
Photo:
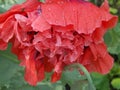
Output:
M9 49L10 47L6 51L0 51L0 83L7 82L19 68L15 63L18 62L17 58Z

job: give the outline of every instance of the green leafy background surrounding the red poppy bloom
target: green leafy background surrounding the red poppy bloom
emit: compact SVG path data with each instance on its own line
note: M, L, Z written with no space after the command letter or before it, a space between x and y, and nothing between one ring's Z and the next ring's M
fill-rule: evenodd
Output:
M5 12L13 4L23 1L0 0L0 13ZM91 1L97 5L102 2L102 0ZM109 0L109 4L110 12L119 16L117 26L109 30L104 37L115 63L107 75L91 74L97 90L120 90L120 0ZM71 87L71 90L89 90L86 77L81 76L77 70L63 72L61 80L55 84L49 82L50 74L46 74L46 79L36 87L30 86L24 81L23 70L24 68L19 66L17 57L11 54L10 45L6 51L0 51L0 90L65 90L66 84Z

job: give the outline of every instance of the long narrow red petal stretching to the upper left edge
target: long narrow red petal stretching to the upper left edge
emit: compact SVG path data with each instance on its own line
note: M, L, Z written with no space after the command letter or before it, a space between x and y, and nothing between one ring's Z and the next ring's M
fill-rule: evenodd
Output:
M16 13L24 14L26 12L33 11L38 7L38 5L40 5L38 0L27 0L25 3L15 5L7 12L0 14L0 23L4 22L9 16Z

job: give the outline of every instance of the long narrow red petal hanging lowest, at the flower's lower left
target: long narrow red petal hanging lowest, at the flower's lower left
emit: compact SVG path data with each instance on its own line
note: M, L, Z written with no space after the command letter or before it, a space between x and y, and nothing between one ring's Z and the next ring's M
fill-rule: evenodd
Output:
M26 60L25 60L25 80L35 86L38 81L37 77L37 70L36 65L34 61L34 51L32 52L30 49L28 49L25 52Z

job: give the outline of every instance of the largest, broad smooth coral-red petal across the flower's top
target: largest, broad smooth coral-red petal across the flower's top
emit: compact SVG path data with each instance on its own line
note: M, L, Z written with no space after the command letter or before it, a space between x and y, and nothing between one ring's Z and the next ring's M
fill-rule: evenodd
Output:
M42 16L49 24L59 26L71 24L78 33L93 33L96 28L101 27L103 21L112 23L107 24L107 28L110 28L117 21L116 16L89 2L48 3L41 5L41 8Z

